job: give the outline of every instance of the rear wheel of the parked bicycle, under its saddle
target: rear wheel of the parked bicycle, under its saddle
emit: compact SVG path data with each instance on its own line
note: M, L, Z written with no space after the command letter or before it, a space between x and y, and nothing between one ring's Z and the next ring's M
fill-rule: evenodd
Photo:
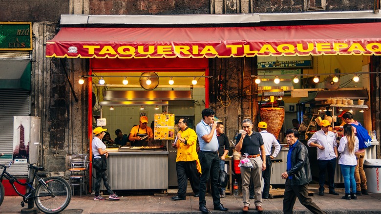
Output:
M34 202L44 213L62 212L70 203L70 185L61 177L49 177L40 183L35 192Z

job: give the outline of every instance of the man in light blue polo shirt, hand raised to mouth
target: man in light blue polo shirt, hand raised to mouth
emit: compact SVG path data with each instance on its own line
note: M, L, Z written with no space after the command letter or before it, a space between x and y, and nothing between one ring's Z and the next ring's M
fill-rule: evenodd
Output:
M198 141L200 142L200 152L198 158L201 165L201 177L200 177L200 196L199 205L200 211L203 213L209 213L206 208L206 184L209 177L211 177L211 190L214 210L228 211L220 202L220 195L218 192L218 175L220 171L219 163L220 158L218 156L218 140L216 134L217 123L214 122L214 110L205 108L202 110L202 120L196 126L196 133Z

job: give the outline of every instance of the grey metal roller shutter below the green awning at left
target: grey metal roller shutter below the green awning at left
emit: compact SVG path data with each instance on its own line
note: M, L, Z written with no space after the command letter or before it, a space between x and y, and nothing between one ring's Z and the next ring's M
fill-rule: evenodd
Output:
M21 89L0 89L0 153L13 152L13 116L29 116L30 92ZM7 155L8 156L8 155ZM12 158L2 158L1 164ZM12 164L12 175L27 176L28 164Z

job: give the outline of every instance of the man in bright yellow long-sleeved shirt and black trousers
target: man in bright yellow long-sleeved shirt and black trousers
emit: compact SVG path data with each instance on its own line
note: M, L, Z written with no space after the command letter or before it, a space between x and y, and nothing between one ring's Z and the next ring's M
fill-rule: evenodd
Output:
M195 197L199 196L201 166L196 152L197 134L188 127L188 119L181 117L178 123L180 128L177 132L173 148L177 148L176 171L179 190L172 200L185 200L187 193L188 178Z

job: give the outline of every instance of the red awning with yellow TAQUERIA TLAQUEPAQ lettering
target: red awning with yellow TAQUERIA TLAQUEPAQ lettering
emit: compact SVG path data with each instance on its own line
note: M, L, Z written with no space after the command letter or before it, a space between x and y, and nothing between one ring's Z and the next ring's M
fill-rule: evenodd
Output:
M46 57L381 55L381 23L272 27L61 28Z

